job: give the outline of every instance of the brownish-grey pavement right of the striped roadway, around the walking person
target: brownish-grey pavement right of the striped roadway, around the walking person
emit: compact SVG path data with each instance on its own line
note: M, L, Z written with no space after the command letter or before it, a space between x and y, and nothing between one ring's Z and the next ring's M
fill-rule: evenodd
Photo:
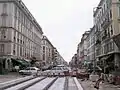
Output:
M80 79L79 82L81 83L84 90L97 90L94 88L95 82L89 80L81 81ZM101 83L99 90L120 90L120 87L108 83Z

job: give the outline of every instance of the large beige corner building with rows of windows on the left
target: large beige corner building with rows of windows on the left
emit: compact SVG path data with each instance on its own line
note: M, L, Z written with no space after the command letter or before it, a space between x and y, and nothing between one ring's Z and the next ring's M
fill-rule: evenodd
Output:
M12 59L41 60L42 28L21 0L0 0L0 63L13 67Z

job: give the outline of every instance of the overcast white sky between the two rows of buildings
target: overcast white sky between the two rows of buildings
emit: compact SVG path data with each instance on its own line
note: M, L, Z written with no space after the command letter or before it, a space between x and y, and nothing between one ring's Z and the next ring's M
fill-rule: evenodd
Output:
M82 34L93 26L100 0L22 0L60 55L69 62Z

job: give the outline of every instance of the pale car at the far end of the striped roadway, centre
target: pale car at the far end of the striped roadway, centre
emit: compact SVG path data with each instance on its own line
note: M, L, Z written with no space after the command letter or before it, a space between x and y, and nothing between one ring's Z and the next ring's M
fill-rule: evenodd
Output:
M46 70L43 72L43 75L47 76L67 76L69 75L69 70L65 66L56 66L50 70Z

